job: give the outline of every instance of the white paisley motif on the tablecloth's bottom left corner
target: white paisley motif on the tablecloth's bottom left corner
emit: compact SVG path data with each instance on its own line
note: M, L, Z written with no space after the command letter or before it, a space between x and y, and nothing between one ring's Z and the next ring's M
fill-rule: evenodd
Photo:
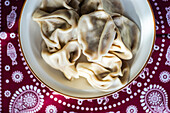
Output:
M44 103L44 96L41 90L33 85L26 85L19 88L12 96L10 113L35 113L39 111Z

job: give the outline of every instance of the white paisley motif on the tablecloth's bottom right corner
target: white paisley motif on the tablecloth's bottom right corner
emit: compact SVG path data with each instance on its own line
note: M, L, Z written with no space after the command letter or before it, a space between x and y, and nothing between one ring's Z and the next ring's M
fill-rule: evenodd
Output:
M143 110L153 113L169 113L168 95L162 86L150 85L141 92L141 106Z

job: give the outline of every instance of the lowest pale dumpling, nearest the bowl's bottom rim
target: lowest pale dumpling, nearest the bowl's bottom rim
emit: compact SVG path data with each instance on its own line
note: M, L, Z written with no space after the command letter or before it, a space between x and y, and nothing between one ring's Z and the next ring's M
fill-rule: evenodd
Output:
M96 63L79 63L77 65L79 76L87 79L90 85L97 89L107 89L113 82L112 77L107 76L110 71Z

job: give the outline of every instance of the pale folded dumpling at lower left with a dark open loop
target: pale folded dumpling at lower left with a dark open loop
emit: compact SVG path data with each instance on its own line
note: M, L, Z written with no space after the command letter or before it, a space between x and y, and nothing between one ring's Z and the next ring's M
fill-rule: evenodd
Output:
M42 44L42 58L54 69L64 73L67 79L78 78L75 62L80 57L81 50L77 41L68 42L61 50L49 53L45 44Z

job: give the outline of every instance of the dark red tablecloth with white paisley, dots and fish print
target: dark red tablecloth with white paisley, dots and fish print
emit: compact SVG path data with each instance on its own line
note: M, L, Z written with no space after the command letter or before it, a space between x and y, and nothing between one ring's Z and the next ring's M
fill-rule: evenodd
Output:
M118 93L94 100L61 96L32 75L18 43L23 3L24 0L0 0L0 112L170 113L169 0L150 0L156 18L156 42L138 79Z

